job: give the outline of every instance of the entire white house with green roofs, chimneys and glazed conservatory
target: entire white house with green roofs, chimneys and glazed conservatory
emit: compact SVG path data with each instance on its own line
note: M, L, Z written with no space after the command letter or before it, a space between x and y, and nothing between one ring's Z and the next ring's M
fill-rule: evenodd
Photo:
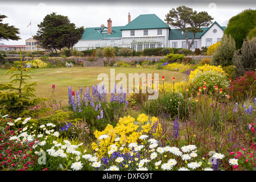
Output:
M155 14L139 15L131 20L128 15L128 23L125 26L112 26L112 20L107 20L108 26L85 28L81 40L75 44L79 51L104 47L127 47L135 51L143 51L145 48L174 47L187 48L184 32L171 29ZM221 40L225 27L214 22L210 27L201 28L203 32L196 33L191 50L210 45ZM189 40L192 34L188 33Z

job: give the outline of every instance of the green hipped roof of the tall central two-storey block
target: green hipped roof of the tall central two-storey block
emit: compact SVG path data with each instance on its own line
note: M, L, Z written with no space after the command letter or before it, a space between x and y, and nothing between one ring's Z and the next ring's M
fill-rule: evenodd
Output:
M155 14L139 15L137 18L126 24L121 30L139 30L153 28L170 28L162 19Z

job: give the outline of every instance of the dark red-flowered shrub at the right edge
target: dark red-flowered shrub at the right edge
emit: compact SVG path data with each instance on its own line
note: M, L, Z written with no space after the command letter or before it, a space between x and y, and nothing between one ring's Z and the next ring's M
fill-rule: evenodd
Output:
M232 92L233 97L245 98L247 96L256 96L256 72L245 72L245 75L237 77L227 88L228 92Z

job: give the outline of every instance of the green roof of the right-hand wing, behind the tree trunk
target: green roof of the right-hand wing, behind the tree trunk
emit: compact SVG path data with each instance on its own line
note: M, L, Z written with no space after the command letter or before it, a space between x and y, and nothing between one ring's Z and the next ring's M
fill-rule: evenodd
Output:
M221 27L220 24L218 24L217 22L214 22L213 24L217 24L217 26L219 26L223 31L226 28L226 27ZM210 27L201 28L203 32L196 33L195 39L200 39L213 26L213 24ZM187 37L188 39L192 39L193 33L187 32ZM181 34L181 31L179 29L171 29L169 32L169 40L177 40L177 39L185 39L184 34Z

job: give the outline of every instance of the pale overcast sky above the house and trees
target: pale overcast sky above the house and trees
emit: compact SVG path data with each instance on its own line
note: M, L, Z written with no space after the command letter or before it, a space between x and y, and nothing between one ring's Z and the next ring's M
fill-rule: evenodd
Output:
M237 2L236 2L237 1ZM108 2L108 3L106 3ZM157 3L156 3L157 2ZM179 3L176 3L179 2ZM231 3L232 2L232 3ZM243 10L255 9L256 5L252 0L222 0L222 1L200 1L200 0L73 0L73 1L2 1L0 0L0 14L8 18L2 23L9 23L9 26L19 28L20 40L1 41L6 45L24 45L25 40L36 35L38 24L43 21L47 14L53 12L68 16L71 23L76 27L100 27L107 26L107 20L112 19L112 26L125 26L128 23L128 13L131 20L141 14L156 14L164 20L165 15L172 8L180 5L192 7L193 10L207 11L214 20L221 26L226 26L228 20ZM31 27L27 27L30 24Z

